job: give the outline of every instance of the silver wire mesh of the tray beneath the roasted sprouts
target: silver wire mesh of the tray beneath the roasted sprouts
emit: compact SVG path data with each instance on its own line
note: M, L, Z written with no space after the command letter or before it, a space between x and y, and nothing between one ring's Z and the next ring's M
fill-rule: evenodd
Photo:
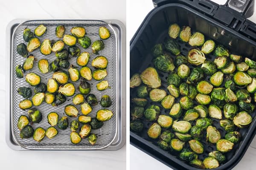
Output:
M47 27L47 33L43 36L39 37L40 41L43 42L44 39L50 39L50 40L60 40L55 36L55 28L58 25L64 25L66 28L65 34L70 34L70 29L74 26L83 26L86 30L86 36L90 37L92 42L95 40L99 40L98 30L100 26L105 26L110 30L111 37L107 40L103 40L105 44L105 48L102 51L99 51L99 55L103 55L107 57L108 59L108 67L107 72L108 76L105 77L104 80L108 80L109 86L111 86L110 89L107 89L105 91L98 91L96 89L96 84L99 81L96 81L94 79L88 81L91 84L91 92L92 94L95 94L98 101L100 101L102 95L109 95L112 99L112 105L110 108L111 111L113 111L113 117L107 121L104 122L104 125L102 128L98 130L92 130L92 133L95 133L98 136L97 142L95 145L91 145L88 142L88 139L82 139L79 144L72 144L70 142L70 128L68 127L66 130L60 130L58 129L58 135L55 136L53 139L48 139L45 137L40 143L33 140L33 138L30 139L21 139L19 136L20 130L17 128L17 120L20 115L24 114L27 115L27 111L21 110L18 105L21 100L23 100L23 97L20 96L17 93L17 88L19 87L30 87L32 90L34 89L31 87L26 81L25 76L28 73L34 72L41 76L41 82L44 82L47 84L47 81L49 78L52 77L52 72L47 74L42 74L38 70L38 60L39 59L47 59L49 62L52 62L54 59L56 59L54 52L50 55L43 55L40 52L40 49L37 49L31 54L35 56L36 61L34 62L34 67L32 70L26 71L24 74L23 79L19 79L15 75L15 67L16 65L22 65L25 61L25 58L21 57L19 54L17 54L16 47L21 42L24 42L23 40L23 30L24 28L28 27L32 31L40 25L44 24ZM97 21L97 20L45 20L45 21L27 21L22 23L20 26L18 26L13 34L12 39L12 132L14 134L14 137L22 147L25 147L26 149L84 149L84 150L90 150L90 149L102 149L104 147L107 147L108 145L113 142L116 132L117 132L117 115L116 111L118 106L116 105L116 99L117 99L117 45L116 45L116 33L113 30L113 28L108 25L107 23L103 21ZM27 44L27 42L24 42ZM81 52L87 51L90 53L90 60L87 64L88 67L94 71L95 69L91 66L91 61L94 59L96 54L92 53L91 46L87 49L82 48L78 43L76 44L80 49ZM68 48L68 47L65 47ZM76 57L73 57L69 59L70 64L76 65ZM79 66L79 69L81 67ZM67 69L63 69L64 71L67 71ZM72 82L69 80L69 82ZM80 80L78 82L72 82L76 87L76 94L79 93L79 90L77 89ZM34 95L34 92L32 96ZM86 96L84 96L86 97ZM67 101L58 106L58 107L52 107L52 105L49 105L45 102L43 102L40 106L33 106L33 108L37 108L39 111L41 111L43 115L43 119L39 124L33 124L32 127L35 129L37 127L43 127L45 130L50 127L49 123L47 122L47 114L51 111L55 111L59 114L59 117L66 116L64 113L64 107L65 105L72 104L73 96L67 97ZM81 108L80 105L76 105L76 108L79 110L79 115L81 115ZM102 109L102 107L98 104L96 106L93 106L93 111L88 115L92 118L96 116L96 112ZM70 122L77 118L69 118L69 125ZM81 127L81 125L80 125Z

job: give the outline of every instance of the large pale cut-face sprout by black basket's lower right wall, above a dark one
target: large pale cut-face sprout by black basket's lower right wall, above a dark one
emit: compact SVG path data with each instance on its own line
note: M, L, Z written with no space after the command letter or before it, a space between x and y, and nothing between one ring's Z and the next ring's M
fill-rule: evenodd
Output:
M239 128L247 127L252 121L252 116L250 116L250 114L248 114L246 111L237 113L237 115L233 118L234 124Z

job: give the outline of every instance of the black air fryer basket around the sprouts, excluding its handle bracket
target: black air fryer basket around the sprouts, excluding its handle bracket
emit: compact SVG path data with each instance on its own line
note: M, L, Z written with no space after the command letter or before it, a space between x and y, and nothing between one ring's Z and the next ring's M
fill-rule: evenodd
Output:
M242 35L245 33L239 34L236 30L217 22L211 17L208 17L208 14L202 14L199 11L200 10L192 9L191 7L181 3L166 3L153 9L145 18L139 30L130 42L130 76L135 73L141 73L143 70L145 70L145 68L153 66L151 62L153 58L150 53L151 48L156 43L163 42L163 40L168 37L168 26L171 23L177 23L180 26L190 26L193 32L200 31L203 33L206 40L212 39L217 44L226 46L229 48L232 54L239 54L255 59L256 42L253 41L253 35L252 37L248 38L248 36ZM239 27L240 26L241 25L239 25ZM244 27L243 29L245 30ZM182 41L177 42L181 46L181 53L186 56L192 47ZM174 56L172 55L172 57ZM214 59L214 56L207 55L207 59ZM160 77L163 80L161 86L162 89L166 89L167 87L167 83L165 81L167 75L168 74L163 74L163 72L160 73ZM207 77L207 79L208 78L209 77ZM136 90L131 89L130 100L134 97L136 97ZM150 100L148 99L148 101ZM178 100L176 100L176 102L177 101ZM148 102L148 105L146 105L145 108L152 104L152 102ZM156 105L155 102L154 105ZM132 104L131 107L133 107ZM160 114L168 115L169 110L161 109ZM256 120L254 117L256 116L256 111L250 115L253 117L253 122L250 124L250 126L244 129L236 129L242 135L241 142L236 144L232 151L225 154L227 157L227 162L221 164L220 167L216 168L216 170L231 169L244 155L247 147L255 135ZM146 130L151 123L152 122L143 120L144 128L143 132L140 134L130 131L131 144L174 169L198 170L197 168L191 167L183 161L180 161L175 156L168 153L168 151L157 147L157 140L150 139L146 133ZM223 138L225 135L225 130L220 127L218 119L213 120L213 125L221 132L221 136ZM199 159L201 160L207 157L209 152L216 150L215 144L208 144L207 142L203 142L203 144L204 153L199 156Z

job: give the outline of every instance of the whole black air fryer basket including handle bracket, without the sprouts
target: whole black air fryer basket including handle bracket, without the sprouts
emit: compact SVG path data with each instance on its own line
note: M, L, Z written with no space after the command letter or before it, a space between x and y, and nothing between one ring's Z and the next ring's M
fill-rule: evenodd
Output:
M242 3L242 1L245 1ZM141 73L145 68L153 66L151 48L168 36L168 26L177 23L180 26L189 26L192 32L203 33L206 39L212 39L217 44L224 45L232 54L242 55L256 60L256 24L247 20L253 14L254 0L228 0L225 5L218 5L209 0L153 0L156 6L144 19L136 34L130 41L130 76ZM167 35L167 36L166 36ZM178 41L181 53L186 56L192 48L184 42ZM214 59L207 55L207 59ZM166 79L167 74L159 74ZM207 77L208 78L208 77ZM162 88L167 84L162 81ZM130 100L136 97L136 90L130 90ZM148 99L148 101L150 101ZM153 103L148 102L147 108ZM154 103L155 105L156 103ZM133 105L131 104L131 107ZM161 110L161 114L168 115L169 110ZM242 140L233 150L226 153L227 161L220 164L215 170L230 170L242 158L256 133L256 111L250 113L253 122L249 127L236 129L242 135ZM140 134L130 131L130 142L155 159L177 170L199 170L180 161L168 151L160 149L156 140L147 136L147 129L152 122L143 120L144 128ZM213 125L224 136L224 130L217 119ZM208 153L216 150L215 144L204 143L204 153L199 159L207 157Z

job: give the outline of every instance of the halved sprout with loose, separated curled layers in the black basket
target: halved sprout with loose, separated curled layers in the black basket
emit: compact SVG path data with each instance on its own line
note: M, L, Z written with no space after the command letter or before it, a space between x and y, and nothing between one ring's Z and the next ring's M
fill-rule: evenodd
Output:
M194 48L188 53L188 62L192 65L201 65L206 60L204 53Z

